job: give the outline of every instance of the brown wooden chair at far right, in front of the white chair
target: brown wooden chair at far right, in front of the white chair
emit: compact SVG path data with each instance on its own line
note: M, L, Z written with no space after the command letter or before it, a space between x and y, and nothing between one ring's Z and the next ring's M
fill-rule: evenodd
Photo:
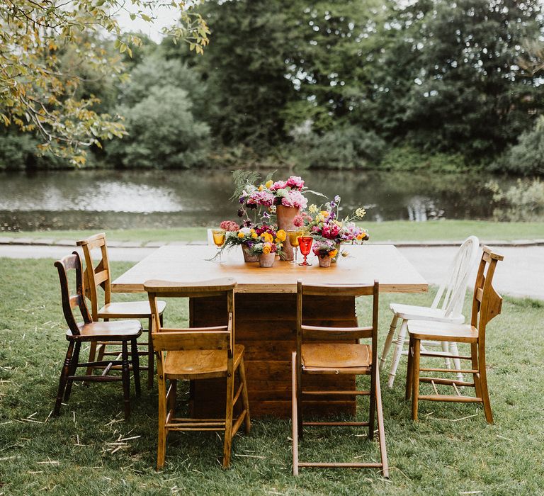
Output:
M480 266L474 287L472 298L472 317L470 324L451 324L447 322L429 322L424 320L410 320L408 322L409 354L408 371L406 378L406 398L412 395L412 419L417 420L419 400L453 401L453 402L477 402L484 405L485 418L492 424L493 415L489 402L487 389L487 371L485 368L485 329L493 317L499 315L502 308L502 298L492 286L493 276L497 261L502 260L502 255L493 253L489 247L484 247ZM457 355L459 360L470 360L471 368L461 370L463 373L472 374L473 382L458 381L448 378L421 377L420 372L451 373L454 370L448 368L421 367L421 356L437 356L430 352L421 351L421 341L432 339L434 341L448 341L470 344L470 356ZM419 383L431 383L434 389L433 395L420 395ZM436 384L451 385L455 395L440 395ZM470 386L475 388L476 395L461 395L458 386Z

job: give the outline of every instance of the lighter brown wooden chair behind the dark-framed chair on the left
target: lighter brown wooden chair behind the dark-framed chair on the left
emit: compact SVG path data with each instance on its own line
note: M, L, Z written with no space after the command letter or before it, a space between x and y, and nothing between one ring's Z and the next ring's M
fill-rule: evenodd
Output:
M110 319L147 319L148 326L144 329L144 332L150 332L152 328L151 309L147 301L128 301L112 303L111 301L111 272L110 264L108 261L108 248L106 247L106 235L101 232L98 235L81 239L78 241L77 246L83 249L85 257L85 275L84 275L84 287L85 295L91 300L91 315L93 320L110 320ZM100 249L101 259L98 262L93 260L91 251L93 249ZM99 306L98 303L98 286L101 286L104 291L104 305ZM162 324L162 312L166 303L164 301L157 302L157 308L159 308L159 315ZM98 360L102 360L103 356L118 355L118 351L106 351L107 342L93 342L91 343L91 351L89 354L90 360L93 361L96 356L98 348ZM147 387L153 387L154 376L154 354L153 344L148 336L146 343L140 343L140 346L147 346L147 350L140 351L140 355L147 356L147 367L141 367L141 369L147 370ZM92 373L92 368L89 367L87 371L89 375Z

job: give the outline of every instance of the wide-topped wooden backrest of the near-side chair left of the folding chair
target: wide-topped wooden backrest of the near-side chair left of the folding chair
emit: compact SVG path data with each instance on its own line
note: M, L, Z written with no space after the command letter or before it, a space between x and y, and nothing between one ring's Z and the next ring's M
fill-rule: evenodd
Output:
M152 319L152 333L155 351L181 350L212 350L220 349L227 352L227 368L232 372L232 357L234 352L234 288L233 278L212 279L192 283L172 281L145 281L144 288L149 297ZM157 298L207 298L210 296L225 296L227 312L225 325L215 327L162 327L157 308Z

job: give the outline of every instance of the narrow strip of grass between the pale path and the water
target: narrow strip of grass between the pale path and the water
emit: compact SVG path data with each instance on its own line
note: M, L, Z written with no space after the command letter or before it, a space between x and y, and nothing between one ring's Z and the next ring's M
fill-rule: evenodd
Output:
M484 220L437 220L409 222L395 220L387 222L361 222L370 232L370 240L382 241L450 241L462 240L476 235L480 240L511 241L514 239L543 239L544 222L490 222ZM2 236L81 239L95 231L43 231L4 232ZM170 229L108 230L111 241L131 241L145 244L151 241L202 241L206 239L205 227L172 227Z

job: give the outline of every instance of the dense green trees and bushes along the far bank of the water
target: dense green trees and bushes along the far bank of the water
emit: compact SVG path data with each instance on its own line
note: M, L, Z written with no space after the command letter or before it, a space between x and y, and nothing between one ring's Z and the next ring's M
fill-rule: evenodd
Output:
M128 133L91 166L544 174L538 0L234 0L200 13L203 56L144 40L124 54L128 81L84 77L78 91ZM0 169L31 167L59 161L2 130Z

